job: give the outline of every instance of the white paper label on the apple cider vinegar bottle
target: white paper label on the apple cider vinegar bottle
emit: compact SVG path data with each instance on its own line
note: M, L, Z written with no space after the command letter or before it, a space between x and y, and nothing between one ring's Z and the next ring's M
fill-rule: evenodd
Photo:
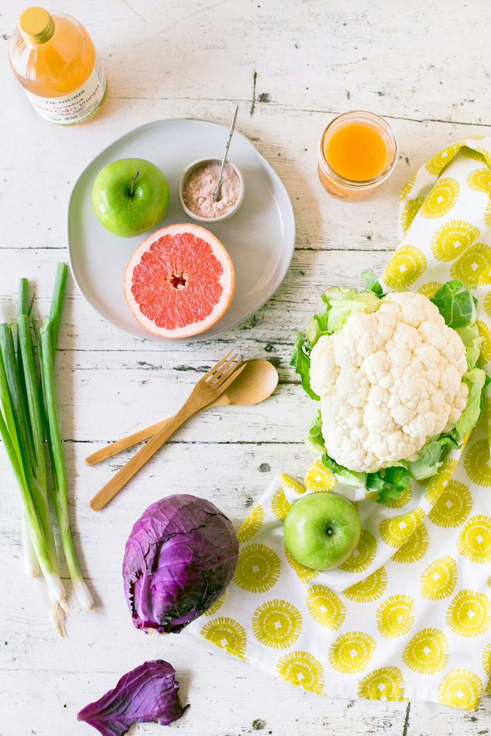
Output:
M24 89L36 112L52 123L71 125L83 123L96 114L106 91L107 79L99 54L88 79L82 87L63 97L40 97Z

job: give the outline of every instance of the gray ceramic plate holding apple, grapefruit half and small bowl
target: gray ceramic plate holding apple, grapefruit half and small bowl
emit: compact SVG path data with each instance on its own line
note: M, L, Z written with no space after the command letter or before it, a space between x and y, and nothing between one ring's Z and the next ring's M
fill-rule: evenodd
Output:
M204 120L158 120L123 135L82 171L68 207L68 257L75 283L83 297L105 319L138 337L152 335L138 324L123 295L124 267L146 238L119 238L109 233L92 209L93 182L103 166L118 158L146 158L166 174L171 202L167 224L188 222L180 206L177 184L181 171L197 158L221 156L228 129ZM295 220L292 201L278 174L255 146L234 132L230 161L244 175L245 197L239 211L226 222L207 225L227 248L236 269L236 294L227 313L194 340L208 340L258 310L278 289L292 260ZM192 340L192 339L191 339ZM186 342L191 342L186 339Z

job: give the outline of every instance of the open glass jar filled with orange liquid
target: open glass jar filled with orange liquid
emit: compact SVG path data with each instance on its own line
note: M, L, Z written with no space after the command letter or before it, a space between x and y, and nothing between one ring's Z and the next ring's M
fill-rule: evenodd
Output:
M398 150L395 133L384 118L364 110L342 113L320 137L319 181L336 199L367 199L392 173Z

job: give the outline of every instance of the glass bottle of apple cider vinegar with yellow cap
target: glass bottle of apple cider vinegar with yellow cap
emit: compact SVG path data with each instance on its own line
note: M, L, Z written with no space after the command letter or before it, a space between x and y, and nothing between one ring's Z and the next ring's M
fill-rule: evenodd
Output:
M85 28L70 15L29 7L9 43L15 77L41 117L83 123L102 107L107 79Z

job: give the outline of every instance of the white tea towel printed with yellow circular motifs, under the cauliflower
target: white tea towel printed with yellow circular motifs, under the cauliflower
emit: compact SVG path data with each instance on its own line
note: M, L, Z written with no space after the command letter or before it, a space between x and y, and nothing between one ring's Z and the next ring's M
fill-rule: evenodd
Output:
M476 289L484 364L490 195L490 138L434 156L403 188L400 245L382 277L389 291L428 297L451 278ZM292 503L331 492L336 479L319 460L304 485L279 475L240 528L233 582L191 630L314 693L475 708L491 676L486 422L465 439L427 486L384 505L370 494L357 502L361 539L337 570L303 567L283 545Z

